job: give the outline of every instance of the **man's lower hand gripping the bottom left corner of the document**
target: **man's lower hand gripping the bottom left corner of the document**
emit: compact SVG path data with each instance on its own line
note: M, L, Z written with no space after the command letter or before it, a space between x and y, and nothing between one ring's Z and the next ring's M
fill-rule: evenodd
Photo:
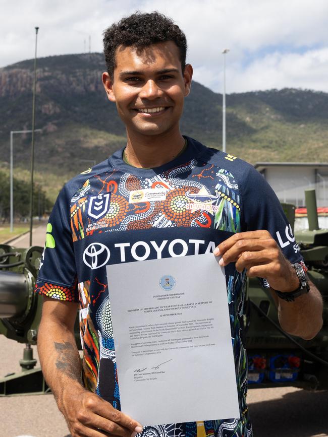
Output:
M72 437L130 437L142 432L139 422L81 386L71 386L63 391L60 410L65 416Z

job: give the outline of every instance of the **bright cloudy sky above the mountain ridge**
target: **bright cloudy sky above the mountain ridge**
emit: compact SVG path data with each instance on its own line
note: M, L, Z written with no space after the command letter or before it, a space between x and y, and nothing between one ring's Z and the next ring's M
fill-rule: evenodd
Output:
M0 0L0 67L102 51L102 32L135 11L159 11L185 32L194 79L215 92L328 92L327 0ZM224 49L230 49L226 55Z

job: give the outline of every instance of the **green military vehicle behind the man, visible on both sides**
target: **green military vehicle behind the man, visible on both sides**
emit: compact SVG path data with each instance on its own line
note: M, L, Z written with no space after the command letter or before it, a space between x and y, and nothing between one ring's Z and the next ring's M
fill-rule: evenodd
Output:
M319 229L314 190L306 192L309 230L295 232L308 276L320 290L323 327L310 341L286 334L279 326L270 292L257 279L248 281L244 307L244 343L248 354L249 388L295 386L328 389L328 229ZM295 207L284 205L290 223ZM280 236L283 238L282 236ZM286 228L285 244L297 244ZM0 244L0 334L25 343L22 372L0 379L0 396L47 393L41 370L35 368L31 345L36 344L42 298L33 293L43 248L17 249ZM78 317L76 341L80 337Z

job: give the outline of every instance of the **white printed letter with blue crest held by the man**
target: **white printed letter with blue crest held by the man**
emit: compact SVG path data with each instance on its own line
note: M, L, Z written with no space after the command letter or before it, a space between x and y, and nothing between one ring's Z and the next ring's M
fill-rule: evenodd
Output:
M145 425L239 417L213 254L107 266L121 408Z

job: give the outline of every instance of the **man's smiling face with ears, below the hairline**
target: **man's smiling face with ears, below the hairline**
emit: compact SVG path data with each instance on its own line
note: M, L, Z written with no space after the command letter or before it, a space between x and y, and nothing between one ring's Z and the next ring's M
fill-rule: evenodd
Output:
M103 73L108 99L115 102L129 136L179 133L184 98L189 94L192 67L181 69L173 41L116 51L114 80Z

